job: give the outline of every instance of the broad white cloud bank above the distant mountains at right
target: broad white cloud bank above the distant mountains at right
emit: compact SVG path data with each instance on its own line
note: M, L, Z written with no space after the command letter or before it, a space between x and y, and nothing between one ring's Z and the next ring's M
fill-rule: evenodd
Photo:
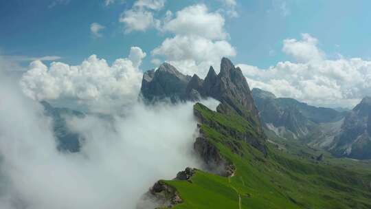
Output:
M284 40L282 51L297 63L277 63L268 69L238 65L251 87L277 96L296 98L310 104L352 107L371 95L371 61L361 58L325 59L317 39L302 34L302 40Z

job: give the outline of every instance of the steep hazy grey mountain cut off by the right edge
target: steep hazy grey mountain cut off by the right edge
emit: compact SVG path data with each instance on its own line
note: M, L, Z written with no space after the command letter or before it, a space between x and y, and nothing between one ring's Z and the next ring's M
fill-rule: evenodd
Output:
M330 151L355 159L371 158L371 98L366 97L352 109L335 136Z

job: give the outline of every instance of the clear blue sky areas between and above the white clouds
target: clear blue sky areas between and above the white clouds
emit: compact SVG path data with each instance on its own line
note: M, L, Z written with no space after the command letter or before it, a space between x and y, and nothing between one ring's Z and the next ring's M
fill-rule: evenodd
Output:
M124 34L120 14L133 1L1 1L0 49L6 55L30 57L60 56L61 61L78 64L91 54L113 61L128 54L135 45L150 52L168 36L156 30ZM221 7L218 1L168 1L162 11L177 11L186 5L203 2L210 10ZM283 5L286 8L284 14ZM308 33L320 41L330 56L371 57L370 1L237 1L238 17L226 18L229 42L236 47L236 63L259 67L289 59L282 54L282 40ZM106 28L102 37L91 35L90 25ZM271 53L269 53L271 52ZM23 63L25 64L25 63ZM26 63L27 64L27 63ZM153 67L150 57L144 69Z

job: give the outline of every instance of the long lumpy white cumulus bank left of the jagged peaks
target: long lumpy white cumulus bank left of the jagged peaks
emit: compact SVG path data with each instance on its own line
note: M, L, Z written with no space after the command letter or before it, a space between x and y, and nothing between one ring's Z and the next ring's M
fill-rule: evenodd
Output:
M138 67L145 56L139 47L131 47L128 58L119 58L111 66L95 55L76 66L52 63L47 67L34 61L20 84L34 100L69 99L88 106L111 101L123 104L137 98L142 79Z

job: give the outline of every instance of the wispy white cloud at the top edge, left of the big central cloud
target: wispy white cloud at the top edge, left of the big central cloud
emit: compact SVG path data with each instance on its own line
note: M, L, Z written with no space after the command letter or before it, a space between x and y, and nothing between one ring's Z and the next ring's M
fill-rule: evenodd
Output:
M148 28L159 28L161 21L153 15L153 10L161 10L164 0L137 0L133 8L124 11L120 16L120 23L124 23L124 32L144 32Z

